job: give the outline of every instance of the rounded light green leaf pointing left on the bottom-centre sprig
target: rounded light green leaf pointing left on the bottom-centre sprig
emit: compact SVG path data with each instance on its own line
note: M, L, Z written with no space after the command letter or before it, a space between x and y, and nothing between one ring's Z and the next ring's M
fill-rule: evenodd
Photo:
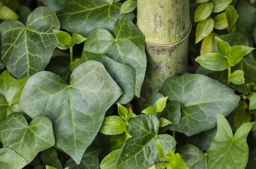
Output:
M121 117L117 115L105 117L102 123L102 127L99 129L99 132L105 135L118 135L124 131L125 122Z

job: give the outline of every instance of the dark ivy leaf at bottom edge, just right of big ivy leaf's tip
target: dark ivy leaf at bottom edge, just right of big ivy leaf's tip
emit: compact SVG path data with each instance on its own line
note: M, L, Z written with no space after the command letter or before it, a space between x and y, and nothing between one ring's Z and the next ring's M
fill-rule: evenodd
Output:
M73 159L69 159L65 167L69 169L99 169L100 150L89 146L82 156L81 163L78 165Z

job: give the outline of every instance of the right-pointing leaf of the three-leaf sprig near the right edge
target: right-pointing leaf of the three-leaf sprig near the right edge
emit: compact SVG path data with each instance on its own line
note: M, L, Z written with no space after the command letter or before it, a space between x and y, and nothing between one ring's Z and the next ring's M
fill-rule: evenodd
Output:
M241 59L253 51L255 48L251 48L249 46L236 45L232 47L232 53L230 55L230 59L228 60L231 66L236 65Z

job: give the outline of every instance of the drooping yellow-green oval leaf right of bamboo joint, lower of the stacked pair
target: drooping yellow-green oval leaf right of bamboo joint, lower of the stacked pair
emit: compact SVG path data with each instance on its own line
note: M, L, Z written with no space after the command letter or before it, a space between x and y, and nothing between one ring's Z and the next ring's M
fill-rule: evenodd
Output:
M214 21L212 18L207 18L206 20L200 21L196 27L195 43L198 43L207 37L212 32L213 28Z

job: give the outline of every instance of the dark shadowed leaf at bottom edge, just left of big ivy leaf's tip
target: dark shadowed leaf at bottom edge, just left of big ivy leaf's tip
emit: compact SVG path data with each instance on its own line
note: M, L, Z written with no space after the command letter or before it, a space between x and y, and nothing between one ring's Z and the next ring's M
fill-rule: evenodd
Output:
M44 165L52 166L56 169L62 169L61 162L58 160L57 150L54 147L41 152L40 158Z

